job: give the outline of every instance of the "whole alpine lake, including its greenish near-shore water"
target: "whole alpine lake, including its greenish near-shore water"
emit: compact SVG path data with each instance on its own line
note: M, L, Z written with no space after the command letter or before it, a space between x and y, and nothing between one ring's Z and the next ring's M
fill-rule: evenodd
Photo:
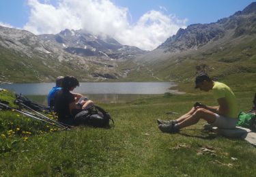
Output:
M48 92L55 83L33 84L0 84L0 88L23 94L29 99L47 105ZM165 93L180 94L171 90L173 82L81 82L74 93L81 93L94 103L126 103L141 97L163 95Z

